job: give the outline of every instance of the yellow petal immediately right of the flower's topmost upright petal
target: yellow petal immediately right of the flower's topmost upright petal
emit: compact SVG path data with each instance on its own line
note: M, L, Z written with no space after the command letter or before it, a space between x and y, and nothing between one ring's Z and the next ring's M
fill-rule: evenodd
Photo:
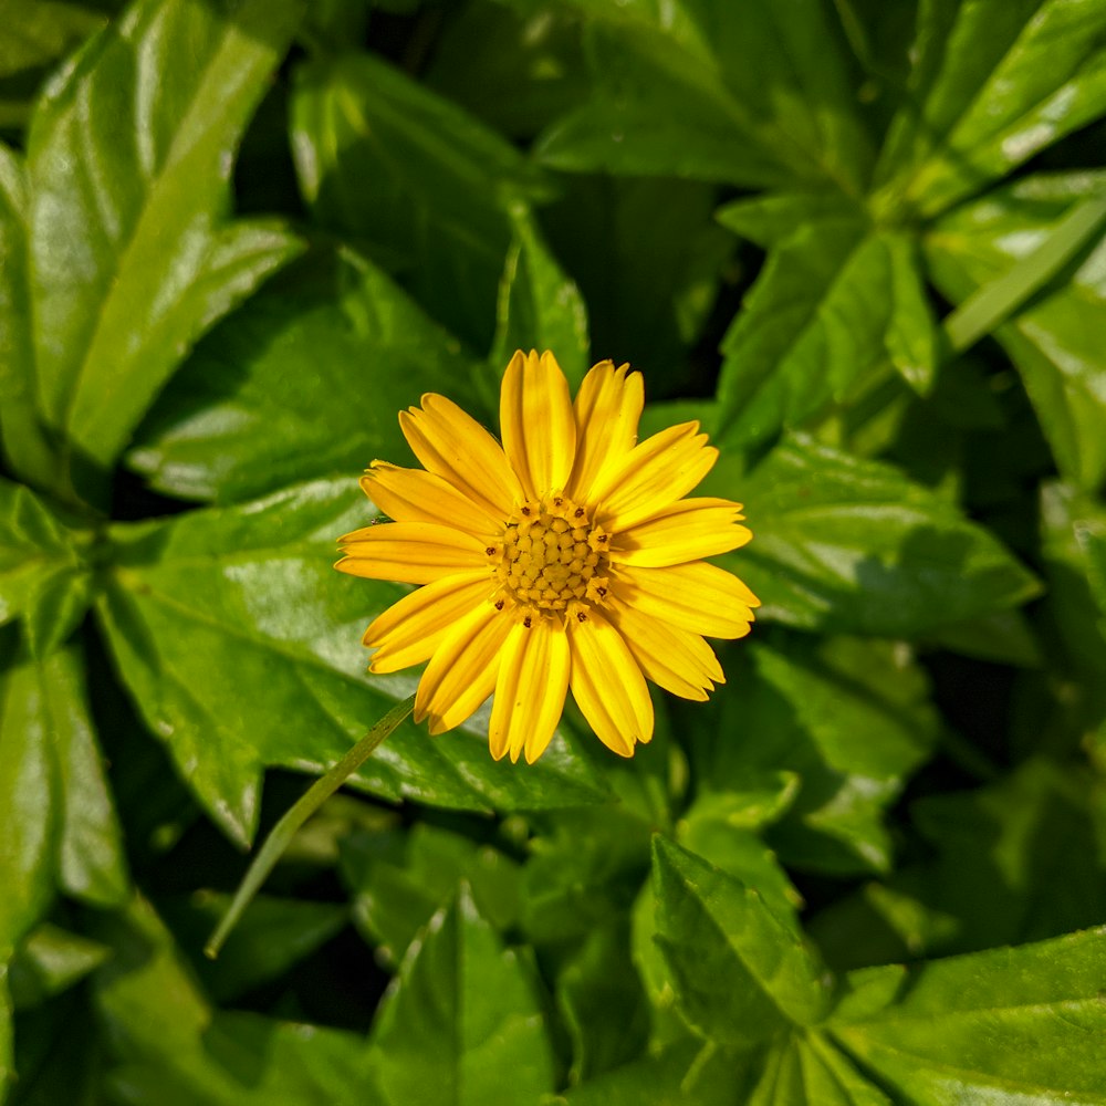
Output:
M613 465L637 444L637 424L645 406L640 373L629 365L615 368L601 361L584 377L576 393L576 461L565 491L571 499L588 500L592 484L604 465Z

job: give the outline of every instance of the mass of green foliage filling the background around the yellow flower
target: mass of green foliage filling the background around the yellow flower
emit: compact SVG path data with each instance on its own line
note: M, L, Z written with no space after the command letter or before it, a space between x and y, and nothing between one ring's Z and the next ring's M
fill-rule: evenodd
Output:
M1096 0L11 0L0 1099L1106 1102ZM406 724L332 571L515 347L763 601L628 762Z

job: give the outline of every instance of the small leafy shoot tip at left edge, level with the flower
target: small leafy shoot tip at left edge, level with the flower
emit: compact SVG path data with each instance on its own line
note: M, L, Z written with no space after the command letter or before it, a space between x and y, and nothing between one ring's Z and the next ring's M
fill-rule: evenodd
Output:
M23 484L0 478L0 625L25 620L28 646L44 657L92 599L91 535L70 529Z

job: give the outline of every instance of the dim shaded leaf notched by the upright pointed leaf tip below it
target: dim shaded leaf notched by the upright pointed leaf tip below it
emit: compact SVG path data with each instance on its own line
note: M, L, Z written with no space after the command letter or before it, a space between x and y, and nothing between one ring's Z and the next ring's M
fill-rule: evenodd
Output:
M519 918L519 866L490 845L426 823L406 832L354 834L338 868L354 921L376 957L398 966L430 918L468 884L481 916L504 930Z

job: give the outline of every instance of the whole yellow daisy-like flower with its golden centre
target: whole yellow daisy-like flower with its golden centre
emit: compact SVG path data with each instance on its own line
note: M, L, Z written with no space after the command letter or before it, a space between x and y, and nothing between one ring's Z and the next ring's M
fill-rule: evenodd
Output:
M702 557L752 536L740 503L685 499L718 450L698 422L637 441L640 373L601 362L575 403L551 353L511 358L503 444L444 396L399 415L424 469L362 478L393 522L341 539L336 567L422 586L365 632L369 670L428 660L415 720L463 722L493 691L492 755L533 763L573 698L622 757L653 737L646 678L685 699L724 681L710 637L743 637L760 603Z

